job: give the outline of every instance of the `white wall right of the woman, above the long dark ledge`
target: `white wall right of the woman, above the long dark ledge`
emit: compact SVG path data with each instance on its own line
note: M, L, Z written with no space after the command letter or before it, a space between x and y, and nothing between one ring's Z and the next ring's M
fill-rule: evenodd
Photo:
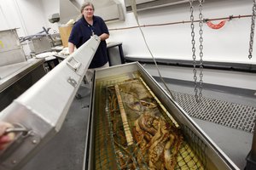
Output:
M124 4L124 1L121 1ZM203 18L229 17L230 15L252 14L251 0L206 0L203 5ZM138 13L140 25L153 25L189 20L189 3L166 8L156 8ZM195 7L195 20L198 20L198 8ZM218 21L213 23L218 23ZM132 13L125 14L124 22L108 24L109 29L137 26ZM196 44L199 44L198 23L195 23ZM234 19L219 30L203 25L204 60L238 63L256 63L256 49L253 59L248 59L249 33L251 18ZM192 59L190 24L144 27L144 35L155 58ZM110 31L108 41L123 42L125 55L130 57L148 57L147 48L138 28ZM255 39L255 38L254 38ZM254 43L254 48L255 48ZM196 48L197 54L199 48Z

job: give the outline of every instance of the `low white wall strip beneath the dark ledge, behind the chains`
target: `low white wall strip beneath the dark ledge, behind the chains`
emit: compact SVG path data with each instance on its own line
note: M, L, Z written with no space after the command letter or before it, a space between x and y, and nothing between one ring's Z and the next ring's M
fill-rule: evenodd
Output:
M143 65L148 73L153 77L159 77L155 65ZM193 69L189 67L177 67L170 65L158 65L162 77L173 78L177 80L194 81ZM199 72L199 71L198 71ZM199 73L197 73L197 81L199 81ZM250 72L238 71L222 71L222 70L203 70L203 83L214 85L232 87L232 88L245 88L253 90L256 96L256 74Z

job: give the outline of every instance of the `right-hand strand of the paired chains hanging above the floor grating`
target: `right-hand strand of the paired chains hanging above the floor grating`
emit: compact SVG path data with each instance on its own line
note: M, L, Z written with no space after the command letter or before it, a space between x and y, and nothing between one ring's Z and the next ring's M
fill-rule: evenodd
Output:
M256 0L255 0L256 1ZM200 38L199 38L199 42L200 42L200 88L199 88L199 101L201 101L201 91L202 91L202 77L203 77L203 45L202 45L202 42L203 42L203 38L202 38L202 34L203 34L203 31L202 31L202 26L203 26L203 16L201 14L201 11L202 11L202 0L199 0L199 27L200 27L200 31L199 31L199 34L200 34Z

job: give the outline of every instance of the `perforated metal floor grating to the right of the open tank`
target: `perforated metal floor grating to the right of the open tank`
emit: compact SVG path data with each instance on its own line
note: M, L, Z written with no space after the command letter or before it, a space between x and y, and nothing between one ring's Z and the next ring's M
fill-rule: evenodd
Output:
M175 91L172 94L189 116L253 133L256 107L205 97L196 103L194 95Z

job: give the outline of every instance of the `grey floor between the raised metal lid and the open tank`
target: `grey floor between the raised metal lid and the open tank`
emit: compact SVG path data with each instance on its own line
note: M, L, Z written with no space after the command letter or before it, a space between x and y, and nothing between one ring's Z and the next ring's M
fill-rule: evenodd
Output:
M81 98L73 99L61 131L20 170L82 170L90 89L80 87Z

